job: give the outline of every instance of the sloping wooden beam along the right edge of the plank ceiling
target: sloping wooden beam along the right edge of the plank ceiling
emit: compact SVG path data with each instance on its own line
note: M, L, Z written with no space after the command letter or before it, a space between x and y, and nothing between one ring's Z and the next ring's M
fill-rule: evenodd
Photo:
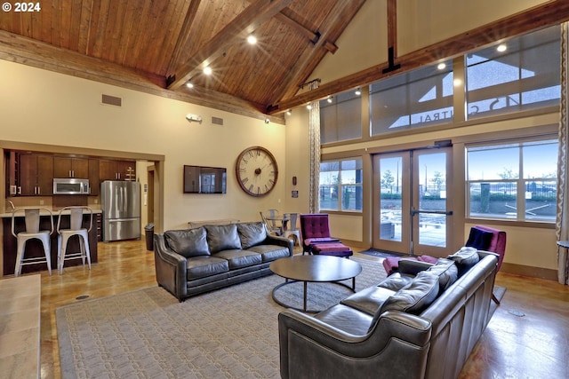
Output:
M328 39L335 41L348 26L348 20L354 17L363 4L365 4L365 0L337 2L322 24L322 30L325 30L325 32L321 39L323 41ZM335 26L335 28L333 28L333 26ZM320 49L321 46L321 43L317 43L312 48L303 51L294 67L291 67L288 75L281 82L282 84L279 88L275 89L275 100L293 97L294 94L299 91L300 83L304 83L307 80L326 54L325 50ZM271 109L271 107L269 107L269 109Z

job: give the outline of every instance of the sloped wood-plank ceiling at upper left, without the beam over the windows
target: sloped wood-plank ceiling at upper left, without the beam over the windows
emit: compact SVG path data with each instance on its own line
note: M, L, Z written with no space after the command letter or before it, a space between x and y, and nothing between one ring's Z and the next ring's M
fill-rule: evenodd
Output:
M53 0L39 2L36 12L3 12L0 29L8 33L0 42L36 55L22 59L39 56L70 74L130 81L134 89L152 84L198 104L265 113L337 49L334 42L364 3ZM246 42L250 34L254 45ZM212 75L204 75L206 66Z

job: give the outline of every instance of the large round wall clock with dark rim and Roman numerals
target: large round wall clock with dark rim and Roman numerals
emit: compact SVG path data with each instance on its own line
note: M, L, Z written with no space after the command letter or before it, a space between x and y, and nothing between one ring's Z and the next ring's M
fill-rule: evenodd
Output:
M252 196L271 192L278 178L275 157L261 146L244 149L237 157L235 172L239 186Z

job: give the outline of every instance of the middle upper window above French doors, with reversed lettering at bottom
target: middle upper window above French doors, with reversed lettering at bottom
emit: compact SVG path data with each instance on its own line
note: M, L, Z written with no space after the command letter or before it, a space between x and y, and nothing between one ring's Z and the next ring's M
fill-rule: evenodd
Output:
M371 135L453 122L451 61L370 85Z

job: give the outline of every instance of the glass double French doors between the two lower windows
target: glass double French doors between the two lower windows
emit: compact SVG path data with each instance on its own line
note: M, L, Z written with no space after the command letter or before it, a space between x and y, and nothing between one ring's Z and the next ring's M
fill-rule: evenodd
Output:
M373 157L373 248L443 257L453 235L451 149Z

